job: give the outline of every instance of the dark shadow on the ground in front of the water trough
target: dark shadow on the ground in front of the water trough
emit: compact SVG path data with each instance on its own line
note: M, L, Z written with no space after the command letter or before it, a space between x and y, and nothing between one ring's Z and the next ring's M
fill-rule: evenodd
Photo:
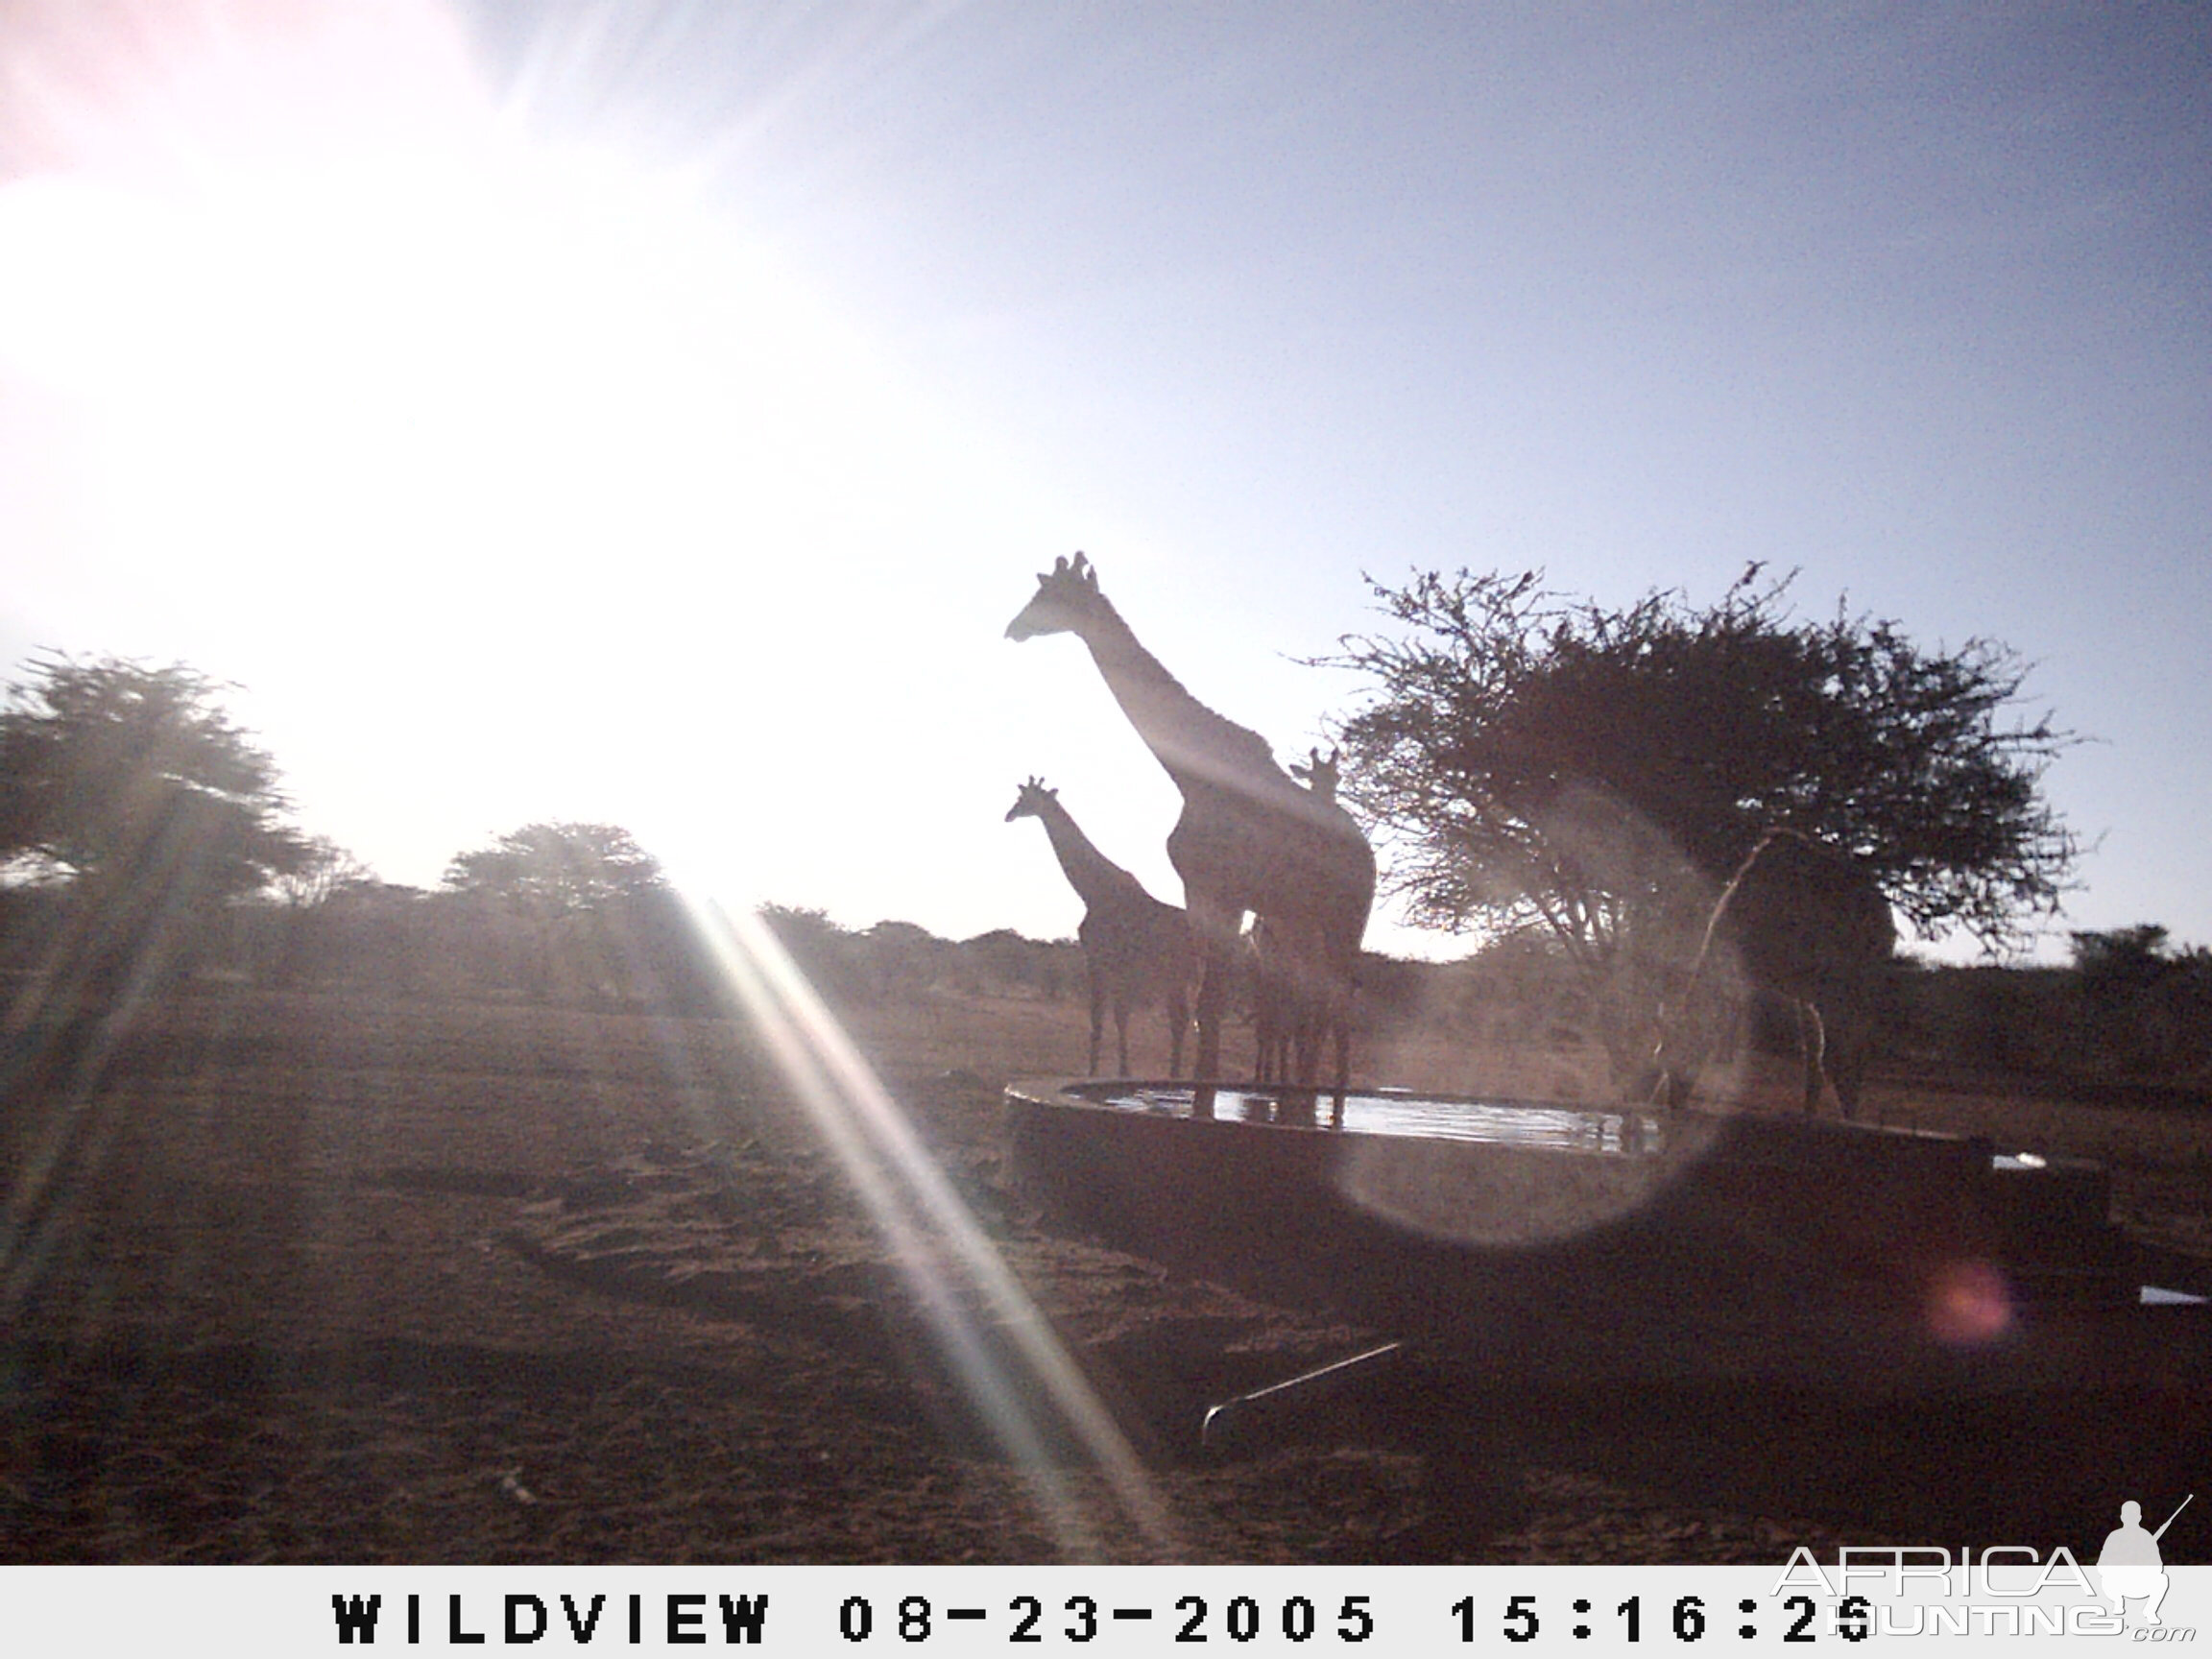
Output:
M1878 1407L1776 1387L1540 1391L1411 1360L1243 1451L1283 1444L1420 1453L1407 1562L1489 1559L1540 1473L1562 1471L1674 1511L1772 1517L1778 1537L1809 1524L1854 1544L2064 1544L2093 1562L2121 1502L2172 1506L2212 1467L2212 1409L2157 1389ZM2212 1559L2212 1540L2177 1531L2166 1559Z

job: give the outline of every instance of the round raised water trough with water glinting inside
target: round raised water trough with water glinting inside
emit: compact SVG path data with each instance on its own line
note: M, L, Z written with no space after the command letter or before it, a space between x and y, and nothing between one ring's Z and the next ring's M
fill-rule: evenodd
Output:
M1484 1371L1851 1391L2212 1369L2104 1170L1796 1117L1172 1082L1006 1088L1015 1164L1135 1254Z

